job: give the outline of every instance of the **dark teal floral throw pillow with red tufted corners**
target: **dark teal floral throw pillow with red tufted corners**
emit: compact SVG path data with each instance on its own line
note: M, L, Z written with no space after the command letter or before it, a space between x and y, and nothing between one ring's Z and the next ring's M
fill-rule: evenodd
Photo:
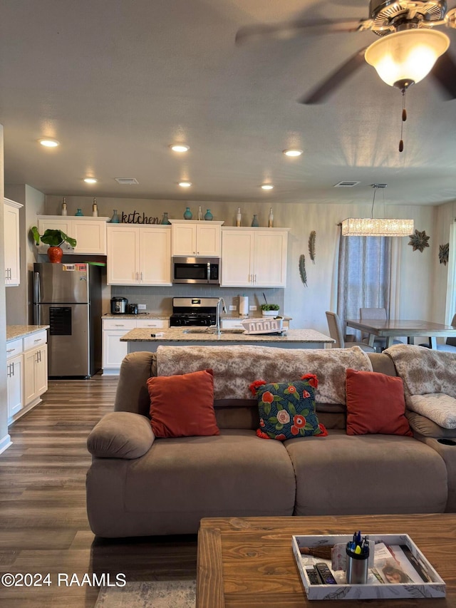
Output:
M317 386L314 373L306 373L294 382L252 382L249 389L258 399L260 418L257 435L279 441L328 435L315 413L314 388Z

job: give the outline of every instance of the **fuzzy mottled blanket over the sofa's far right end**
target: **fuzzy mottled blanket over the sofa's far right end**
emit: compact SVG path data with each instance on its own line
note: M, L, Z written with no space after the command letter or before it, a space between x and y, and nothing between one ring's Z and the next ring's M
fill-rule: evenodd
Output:
M391 346L407 407L443 428L456 428L456 354L423 346Z

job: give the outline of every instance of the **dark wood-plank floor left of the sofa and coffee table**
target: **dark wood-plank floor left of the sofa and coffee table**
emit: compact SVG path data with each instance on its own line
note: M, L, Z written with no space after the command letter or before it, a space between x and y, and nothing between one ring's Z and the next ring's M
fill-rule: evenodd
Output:
M0 584L2 607L91 608L99 589L96 580L81 584L86 573L111 583L119 573L127 581L195 577L196 536L102 540L90 531L86 438L112 411L116 386L100 375L49 381L43 403L10 426L13 445L0 455L0 574L49 573L50 584Z

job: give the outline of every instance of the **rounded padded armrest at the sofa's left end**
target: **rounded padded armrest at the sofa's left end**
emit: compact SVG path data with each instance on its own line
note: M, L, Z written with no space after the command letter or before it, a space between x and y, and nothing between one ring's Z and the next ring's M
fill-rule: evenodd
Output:
M87 448L97 458L133 459L144 455L154 439L150 420L145 416L110 412L92 429Z

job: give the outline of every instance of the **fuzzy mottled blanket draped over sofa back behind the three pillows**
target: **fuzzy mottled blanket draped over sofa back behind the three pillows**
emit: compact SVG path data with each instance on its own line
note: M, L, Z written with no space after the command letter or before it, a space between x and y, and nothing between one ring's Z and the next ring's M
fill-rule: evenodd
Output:
M286 382L318 376L317 403L346 403L346 369L372 371L359 346L351 349L279 349L272 346L159 346L157 375L214 370L215 399L252 399L254 380Z

